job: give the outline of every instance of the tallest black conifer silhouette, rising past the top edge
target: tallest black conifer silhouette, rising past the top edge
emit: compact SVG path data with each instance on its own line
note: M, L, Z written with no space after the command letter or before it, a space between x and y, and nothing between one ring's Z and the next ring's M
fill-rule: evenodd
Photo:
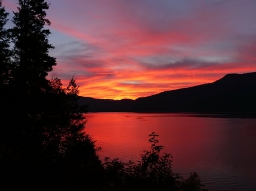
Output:
M18 151L23 151L24 159L36 156L38 144L42 142L42 128L38 121L42 113L42 93L47 89L49 71L56 65L55 58L49 56L53 48L48 42L50 25L46 19L49 5L44 0L19 0L14 12L14 27L10 29L14 44L11 65L13 77L12 94L19 95L10 100L16 120L13 139ZM26 153L26 154L25 154ZM31 159L34 160L34 159Z

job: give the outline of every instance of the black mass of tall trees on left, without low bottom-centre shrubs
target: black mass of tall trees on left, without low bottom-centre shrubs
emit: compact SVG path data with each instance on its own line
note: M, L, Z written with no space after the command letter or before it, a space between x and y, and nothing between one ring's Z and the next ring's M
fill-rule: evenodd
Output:
M26 190L85 189L96 176L100 181L103 168L92 137L84 131L86 110L77 104L79 87L74 77L67 88L58 78L46 78L56 65L48 54L53 48L47 39L50 32L44 28L50 24L48 4L19 0L18 5L7 39L13 43L11 58L4 54L9 51L8 44L0 49L6 60L6 65L1 62L1 78L6 79L0 82L2 186L10 190L16 186ZM3 41L7 14L0 8L0 43L9 43ZM10 180L15 184L7 184ZM84 180L87 184L81 183Z

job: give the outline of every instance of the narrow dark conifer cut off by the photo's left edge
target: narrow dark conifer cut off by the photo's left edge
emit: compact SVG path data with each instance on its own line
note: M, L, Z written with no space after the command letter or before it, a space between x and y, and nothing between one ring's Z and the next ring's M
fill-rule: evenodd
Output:
M1 128L0 128L0 164L5 165L3 161L7 161L10 158L8 156L13 155L13 136L12 129L15 125L14 120L10 120L10 116L15 113L10 109L13 105L13 91L10 86L12 79L11 69L11 51L10 51L10 33L5 28L7 22L7 16L5 7L2 6L0 0L0 111L1 111ZM15 156L13 155L13 158ZM2 167L2 165L0 165ZM1 169L0 169L1 170Z

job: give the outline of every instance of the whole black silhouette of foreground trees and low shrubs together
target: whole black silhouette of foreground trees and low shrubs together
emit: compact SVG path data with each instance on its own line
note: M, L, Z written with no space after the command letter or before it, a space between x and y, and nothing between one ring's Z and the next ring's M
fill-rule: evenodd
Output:
M44 0L19 0L12 28L0 1L1 190L203 190L196 173L172 172L170 154L160 154L158 136L140 162L106 158L85 132L86 107L77 104L71 78L47 79L56 65Z

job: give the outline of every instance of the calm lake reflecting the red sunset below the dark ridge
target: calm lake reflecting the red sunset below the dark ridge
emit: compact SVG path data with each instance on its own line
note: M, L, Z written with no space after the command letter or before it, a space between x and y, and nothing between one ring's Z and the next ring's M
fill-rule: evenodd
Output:
M190 113L86 113L86 132L98 155L123 162L150 150L148 135L159 134L174 172L197 172L209 191L256 190L256 118L209 117Z

